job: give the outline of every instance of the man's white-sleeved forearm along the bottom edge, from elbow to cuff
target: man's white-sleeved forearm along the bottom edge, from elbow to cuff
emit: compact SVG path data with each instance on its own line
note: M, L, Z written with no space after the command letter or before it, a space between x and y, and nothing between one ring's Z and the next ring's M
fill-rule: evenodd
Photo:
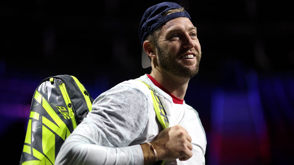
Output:
M96 144L66 144L59 151L55 165L126 165L143 164L143 153L140 145L129 147L105 147Z

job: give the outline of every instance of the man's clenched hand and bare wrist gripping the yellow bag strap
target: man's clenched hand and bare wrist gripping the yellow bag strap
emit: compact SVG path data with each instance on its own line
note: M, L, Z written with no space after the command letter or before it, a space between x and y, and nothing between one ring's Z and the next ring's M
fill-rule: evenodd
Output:
M185 161L193 155L191 141L192 138L187 130L181 125L175 125L163 129L150 143L157 151L158 160L169 161L179 158L180 161ZM148 144L141 144L141 147L144 153L144 164L147 162L150 163L151 160L154 162L154 154L151 154L153 151L148 147ZM149 152L149 154L145 152ZM145 155L148 155L148 161L145 159ZM150 158L150 156L153 158Z

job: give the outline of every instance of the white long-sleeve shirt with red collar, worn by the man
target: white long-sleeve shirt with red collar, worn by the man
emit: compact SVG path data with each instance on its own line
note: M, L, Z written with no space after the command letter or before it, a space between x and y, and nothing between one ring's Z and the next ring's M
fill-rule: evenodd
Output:
M169 126L180 124L192 137L193 156L187 161L177 159L165 164L205 164L206 134L197 111L184 100L179 103L179 99L148 76L124 81L99 95L92 111L65 140L55 164L143 164L139 144L152 141L162 127L153 109L150 90L141 81L156 91Z

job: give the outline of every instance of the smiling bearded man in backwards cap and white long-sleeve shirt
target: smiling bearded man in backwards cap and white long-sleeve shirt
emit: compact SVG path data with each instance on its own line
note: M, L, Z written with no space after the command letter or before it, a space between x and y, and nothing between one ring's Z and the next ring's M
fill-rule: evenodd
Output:
M166 12L168 11L168 12ZM65 140L55 164L205 164L206 135L198 113L185 103L198 72L201 48L190 15L178 4L148 8L140 23L142 66L151 74L103 92ZM169 127L156 117L152 92Z

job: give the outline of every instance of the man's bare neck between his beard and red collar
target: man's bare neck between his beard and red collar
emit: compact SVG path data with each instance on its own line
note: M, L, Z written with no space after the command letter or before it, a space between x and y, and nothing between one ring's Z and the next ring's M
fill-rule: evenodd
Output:
M179 99L184 99L189 83L189 78L181 78L171 73L159 70L152 70L151 76L160 83L171 94Z

